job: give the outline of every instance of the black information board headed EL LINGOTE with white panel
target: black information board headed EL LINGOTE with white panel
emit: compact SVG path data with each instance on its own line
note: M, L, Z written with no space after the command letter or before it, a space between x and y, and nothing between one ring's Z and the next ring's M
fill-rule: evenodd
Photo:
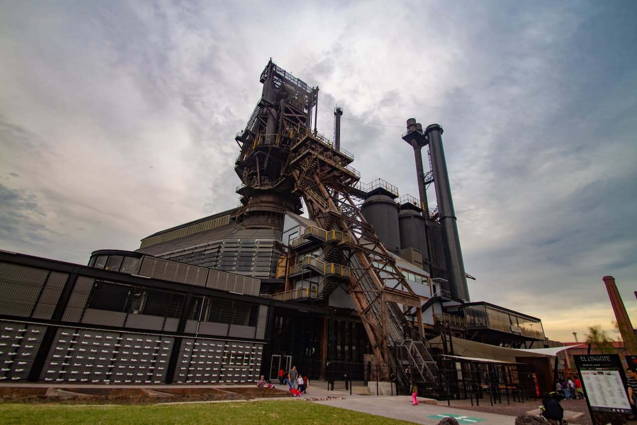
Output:
M591 414L631 414L626 376L617 354L573 356Z

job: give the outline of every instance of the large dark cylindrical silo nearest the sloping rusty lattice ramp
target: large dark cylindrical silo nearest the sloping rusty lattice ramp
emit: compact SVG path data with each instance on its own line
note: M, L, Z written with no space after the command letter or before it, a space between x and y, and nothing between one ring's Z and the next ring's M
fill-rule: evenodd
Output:
M365 199L361 207L362 216L374 227L374 232L385 248L398 254L400 252L400 230L398 226L398 205L392 194L375 191Z

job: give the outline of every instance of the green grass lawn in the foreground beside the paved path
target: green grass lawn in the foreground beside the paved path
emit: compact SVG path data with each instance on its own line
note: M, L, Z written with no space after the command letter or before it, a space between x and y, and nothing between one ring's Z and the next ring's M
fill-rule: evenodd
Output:
M180 405L0 404L2 424L412 424L302 400Z

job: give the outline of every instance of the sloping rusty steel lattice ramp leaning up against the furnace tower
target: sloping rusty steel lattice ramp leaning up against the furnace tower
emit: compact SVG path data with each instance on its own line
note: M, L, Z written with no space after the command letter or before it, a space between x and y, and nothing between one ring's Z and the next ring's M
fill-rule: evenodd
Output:
M352 186L358 181L357 173L347 167L352 159L326 147L313 134L299 134L299 143L290 150L289 173L321 230L348 236L347 241L340 241L338 250L328 250L326 256L329 261L342 261L351 270L347 289L361 315L383 377L390 378L394 370L406 384L408 377L398 372L406 367L417 371L419 382L434 387L436 363L424 343L404 338L404 310L417 307L420 322L420 298L350 197Z

